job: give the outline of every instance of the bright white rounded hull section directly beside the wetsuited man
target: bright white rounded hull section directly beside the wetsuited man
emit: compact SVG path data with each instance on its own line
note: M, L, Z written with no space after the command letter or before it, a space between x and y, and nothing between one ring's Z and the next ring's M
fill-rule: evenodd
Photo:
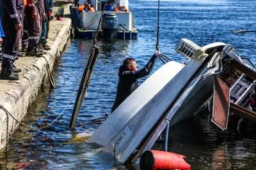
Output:
M109 141L138 113L163 87L183 68L182 64L171 61L136 89L116 110L100 125L87 143L106 146Z

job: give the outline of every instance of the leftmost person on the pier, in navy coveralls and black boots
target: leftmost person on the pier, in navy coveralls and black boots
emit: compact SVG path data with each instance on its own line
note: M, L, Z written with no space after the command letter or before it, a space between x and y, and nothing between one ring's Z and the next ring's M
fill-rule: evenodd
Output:
M3 38L3 62L0 78L3 80L19 80L21 69L15 62L19 52L20 36L24 15L24 0L1 0L3 4L2 24L5 37Z

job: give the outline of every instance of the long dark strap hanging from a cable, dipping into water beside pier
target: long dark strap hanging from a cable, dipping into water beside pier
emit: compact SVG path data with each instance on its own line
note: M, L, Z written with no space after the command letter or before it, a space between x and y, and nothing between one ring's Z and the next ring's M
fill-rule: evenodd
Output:
M93 69L95 67L97 57L99 55L99 47L96 45L96 43L97 43L99 28L100 28L100 25L101 25L101 22L102 22L102 16L103 16L103 13L104 13L104 10L105 10L106 3L107 3L107 1L105 1L104 8L103 8L101 16L100 16L99 25L97 27L97 31L95 32L93 45L92 45L92 48L90 50L90 55L88 57L86 67L83 71L83 76L81 78L80 87L79 87L79 90L77 92L76 103L75 103L75 106L74 106L74 109L73 109L73 113L72 113L72 117L71 117L70 125L69 125L69 127L71 129L74 129L74 127L76 125L76 120L77 120L79 111L81 110L81 106L83 104L84 97L86 97L87 89L90 85L90 81L91 81L91 78L92 78Z

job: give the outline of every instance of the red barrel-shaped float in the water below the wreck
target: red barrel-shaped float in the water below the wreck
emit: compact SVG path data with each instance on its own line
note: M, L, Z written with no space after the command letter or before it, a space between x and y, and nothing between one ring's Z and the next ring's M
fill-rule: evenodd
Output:
M185 156L177 153L164 152L160 150L147 150L141 156L140 169L189 170L191 166L184 160L185 158Z

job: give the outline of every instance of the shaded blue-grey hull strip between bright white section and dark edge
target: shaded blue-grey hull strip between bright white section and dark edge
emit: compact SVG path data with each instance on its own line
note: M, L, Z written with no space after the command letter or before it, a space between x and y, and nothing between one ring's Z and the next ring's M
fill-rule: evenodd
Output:
M170 106L173 99L179 94L180 90L188 83L189 79L198 70L205 60L205 56L199 60L190 60L175 77L172 78L163 89L148 101L134 117L111 139L104 148L104 152L114 155L118 162L125 162L136 150L141 141L148 134L150 129L156 124L157 120L163 115L166 108ZM133 104L129 104L134 107Z

